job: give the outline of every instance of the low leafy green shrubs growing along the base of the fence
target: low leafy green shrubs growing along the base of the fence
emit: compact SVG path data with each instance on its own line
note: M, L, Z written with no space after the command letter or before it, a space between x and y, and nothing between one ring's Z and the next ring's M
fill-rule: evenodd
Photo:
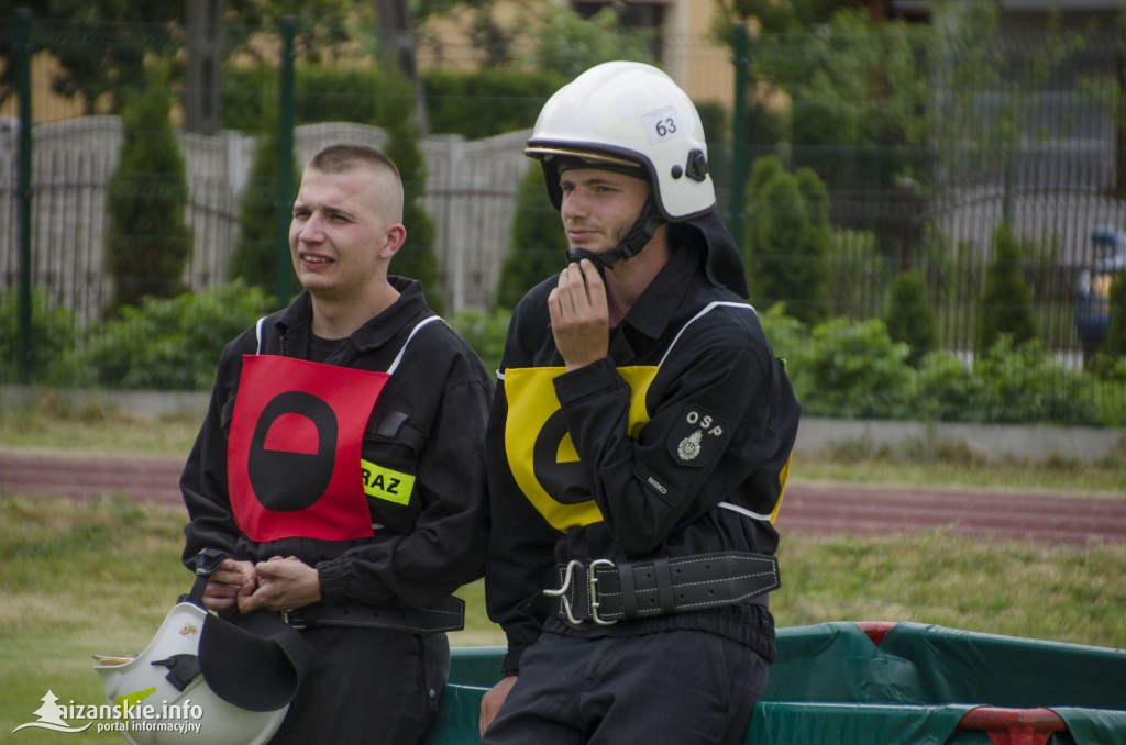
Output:
M5 360L15 360L14 297L0 296ZM223 347L271 304L261 289L240 282L198 295L146 298L124 308L119 321L92 329L74 350L69 316L48 309L37 296L36 380L206 391ZM463 311L449 323L492 372L500 365L509 317L506 309ZM972 365L940 351L913 367L908 344L894 341L881 320L833 318L810 327L780 304L760 317L807 416L1126 427L1126 366L1100 377L1067 369L1036 340L1017 344L1002 336ZM12 361L0 363L0 377L16 382Z

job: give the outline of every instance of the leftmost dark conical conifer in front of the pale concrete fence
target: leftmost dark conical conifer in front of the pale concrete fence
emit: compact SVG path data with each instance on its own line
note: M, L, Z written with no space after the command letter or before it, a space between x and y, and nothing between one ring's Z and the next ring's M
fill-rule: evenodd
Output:
M109 180L105 241L111 313L149 295L172 297L184 289L193 232L185 221L188 186L171 106L168 68L155 64L126 105L125 142Z

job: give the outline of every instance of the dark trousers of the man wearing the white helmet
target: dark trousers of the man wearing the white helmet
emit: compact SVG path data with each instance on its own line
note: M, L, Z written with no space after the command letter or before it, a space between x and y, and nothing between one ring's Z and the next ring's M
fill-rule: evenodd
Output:
M481 743L735 745L768 674L758 653L700 631L544 634Z

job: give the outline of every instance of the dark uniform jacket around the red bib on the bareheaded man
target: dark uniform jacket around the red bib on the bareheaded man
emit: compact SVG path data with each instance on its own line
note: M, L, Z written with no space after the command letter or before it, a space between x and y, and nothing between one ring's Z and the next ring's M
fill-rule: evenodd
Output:
M374 371L392 366L411 331L434 313L418 281L391 281L399 299L316 361ZM473 349L440 321L426 324L410 341L367 423L363 460L374 464L373 481L382 473L412 481L409 494L382 495L394 499L369 492L376 494L367 496L373 536L257 544L235 524L227 436L243 356L260 351L309 359L311 323L306 293L260 324L260 347L250 329L223 351L211 405L180 481L190 515L184 562L194 567L206 547L251 562L296 556L318 568L324 603L429 605L481 576L488 528L482 448L492 383ZM391 484L388 477L378 486Z

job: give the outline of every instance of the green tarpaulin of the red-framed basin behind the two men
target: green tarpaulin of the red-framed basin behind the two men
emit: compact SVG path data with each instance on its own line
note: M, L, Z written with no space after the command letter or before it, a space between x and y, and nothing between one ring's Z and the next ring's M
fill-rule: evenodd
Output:
M502 647L452 653L427 745L477 742L481 695ZM877 645L856 623L778 629L778 658L747 745L989 745L959 727L977 707L1051 709L1049 745L1126 745L1126 650L894 623Z

